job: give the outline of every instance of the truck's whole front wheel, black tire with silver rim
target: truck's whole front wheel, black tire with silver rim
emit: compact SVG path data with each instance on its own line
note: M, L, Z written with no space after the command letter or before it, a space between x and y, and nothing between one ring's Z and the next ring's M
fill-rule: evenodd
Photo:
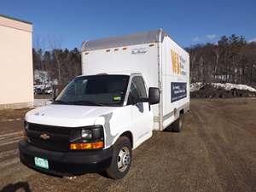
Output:
M131 166L131 143L128 137L120 137L113 145L113 157L106 170L108 177L119 179L125 177Z

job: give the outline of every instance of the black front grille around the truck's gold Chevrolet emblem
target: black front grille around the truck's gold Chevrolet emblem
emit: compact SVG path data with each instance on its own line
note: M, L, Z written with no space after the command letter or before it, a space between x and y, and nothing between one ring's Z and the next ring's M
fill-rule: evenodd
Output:
M48 137L42 137L43 134ZM33 146L61 152L68 150L70 134L71 128L69 127L38 124L29 124L27 131L27 137Z

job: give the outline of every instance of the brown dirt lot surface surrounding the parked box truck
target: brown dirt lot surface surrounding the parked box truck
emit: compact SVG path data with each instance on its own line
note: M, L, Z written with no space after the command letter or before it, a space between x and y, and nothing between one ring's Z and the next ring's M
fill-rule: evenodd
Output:
M184 130L155 131L133 152L131 170L121 180L96 173L51 177L26 168L17 150L22 126L22 120L0 123L2 192L256 191L255 98L191 100Z

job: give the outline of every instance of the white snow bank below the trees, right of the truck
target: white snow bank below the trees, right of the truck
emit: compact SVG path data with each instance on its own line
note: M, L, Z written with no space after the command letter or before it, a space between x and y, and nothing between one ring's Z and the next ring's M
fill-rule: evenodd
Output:
M201 90L201 88L204 87L205 85L206 84L202 83L202 82L196 82L196 83L190 84L190 92L194 92L196 90ZM236 90L249 90L252 92L256 92L256 89L254 89L251 86L248 86L247 84L212 83L211 85L212 85L212 87L214 87L216 89L224 89L224 90L236 89Z

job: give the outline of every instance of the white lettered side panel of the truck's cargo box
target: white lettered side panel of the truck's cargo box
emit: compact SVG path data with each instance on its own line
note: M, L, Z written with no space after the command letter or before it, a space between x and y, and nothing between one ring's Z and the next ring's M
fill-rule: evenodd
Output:
M162 44L163 128L189 110L189 54L172 38Z

